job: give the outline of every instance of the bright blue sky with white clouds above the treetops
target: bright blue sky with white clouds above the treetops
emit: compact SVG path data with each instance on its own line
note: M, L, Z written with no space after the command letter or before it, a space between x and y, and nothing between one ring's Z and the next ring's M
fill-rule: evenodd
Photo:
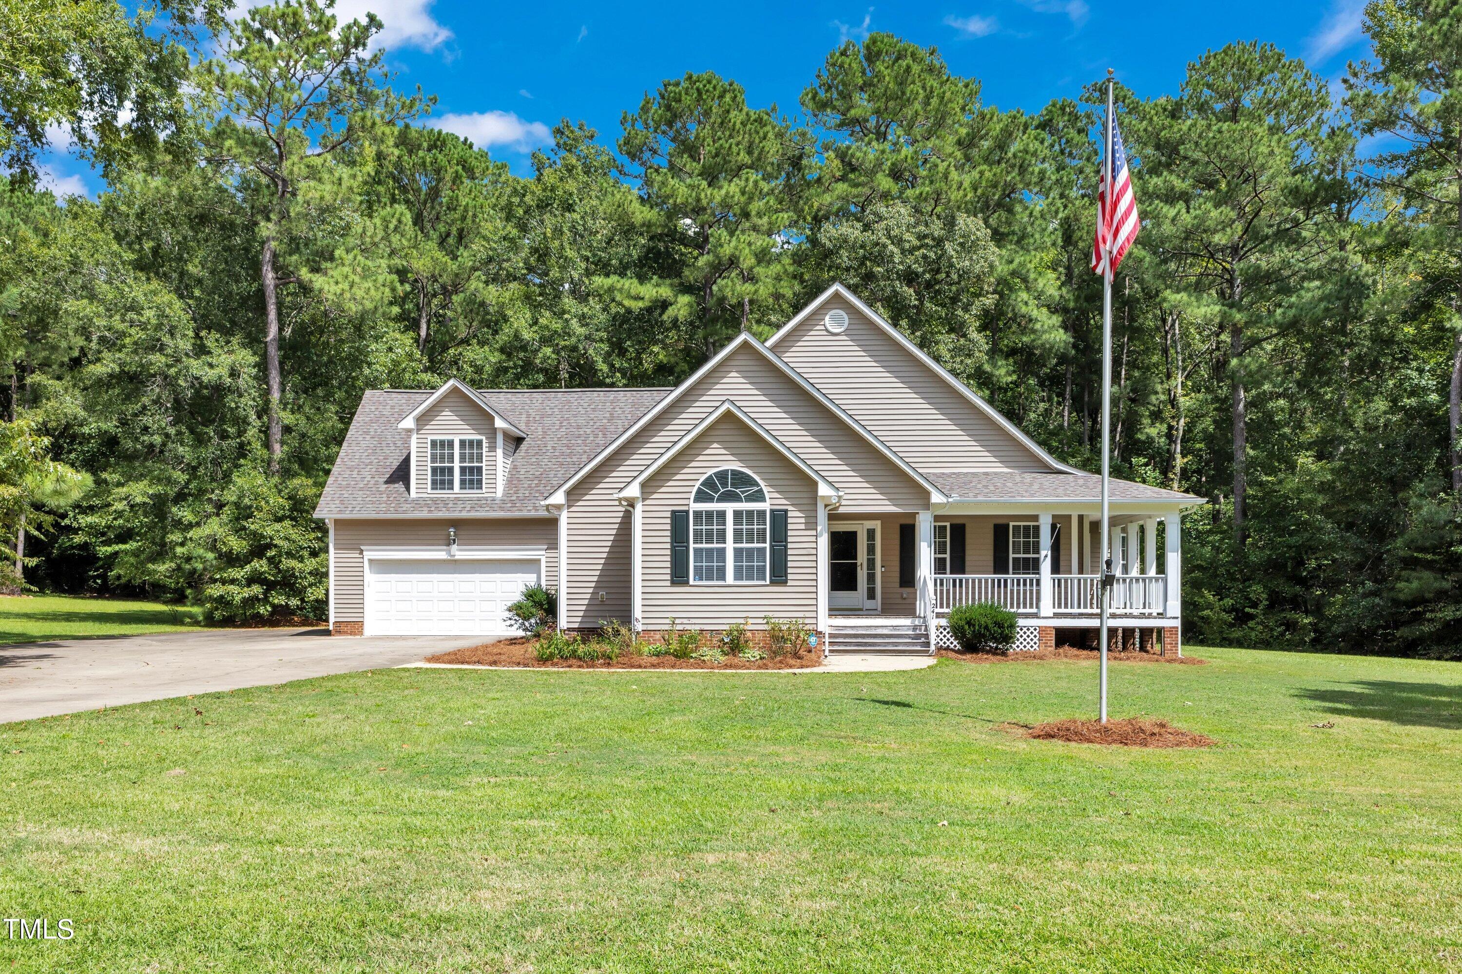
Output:
M373 10L399 86L439 96L428 124L450 129L526 172L560 118L613 145L620 115L686 72L738 80L753 105L797 112L797 99L844 38L889 31L936 45L984 83L987 104L1038 111L1080 93L1107 67L1143 96L1175 91L1186 64L1235 39L1262 39L1327 77L1366 54L1360 0L959 0L942 3L471 3L338 0ZM95 191L85 164L51 153L51 184Z

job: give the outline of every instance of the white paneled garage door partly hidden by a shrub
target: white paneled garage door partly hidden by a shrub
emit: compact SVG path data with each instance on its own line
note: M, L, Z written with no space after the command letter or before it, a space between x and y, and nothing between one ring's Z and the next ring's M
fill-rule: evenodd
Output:
M366 635L504 635L537 561L371 559Z

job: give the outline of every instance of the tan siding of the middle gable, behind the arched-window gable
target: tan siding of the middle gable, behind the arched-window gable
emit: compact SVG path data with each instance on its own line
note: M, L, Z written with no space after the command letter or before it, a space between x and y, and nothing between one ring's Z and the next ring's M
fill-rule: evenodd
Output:
M839 488L844 513L928 508L925 488L759 350L741 346L569 492L570 628L629 621L630 515L614 494L727 399Z

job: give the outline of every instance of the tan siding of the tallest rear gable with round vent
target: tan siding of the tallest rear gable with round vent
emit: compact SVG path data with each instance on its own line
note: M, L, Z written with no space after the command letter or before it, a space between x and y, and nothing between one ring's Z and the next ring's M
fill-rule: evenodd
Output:
M823 327L832 308L848 314L839 334ZM838 295L772 350L920 470L1051 469Z

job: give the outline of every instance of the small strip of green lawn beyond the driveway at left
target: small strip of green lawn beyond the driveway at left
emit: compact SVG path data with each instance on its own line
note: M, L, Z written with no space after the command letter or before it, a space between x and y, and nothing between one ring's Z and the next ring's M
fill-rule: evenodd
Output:
M0 645L199 628L199 610L135 599L0 596ZM3 718L3 714L0 714Z

